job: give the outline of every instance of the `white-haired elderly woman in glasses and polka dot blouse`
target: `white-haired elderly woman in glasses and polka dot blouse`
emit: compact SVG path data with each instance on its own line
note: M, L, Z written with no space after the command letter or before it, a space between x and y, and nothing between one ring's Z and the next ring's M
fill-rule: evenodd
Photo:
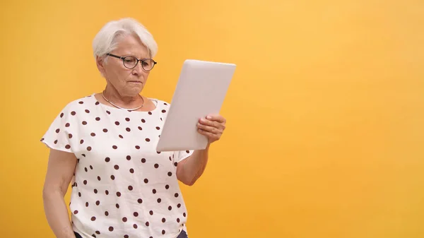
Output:
M111 21L93 51L105 89L69 102L41 139L50 149L43 189L49 226L58 238L187 237L178 181L199 179L225 119L199 119L205 150L156 151L170 105L141 95L156 64L151 33L131 18ZM70 221L64 195L71 181Z

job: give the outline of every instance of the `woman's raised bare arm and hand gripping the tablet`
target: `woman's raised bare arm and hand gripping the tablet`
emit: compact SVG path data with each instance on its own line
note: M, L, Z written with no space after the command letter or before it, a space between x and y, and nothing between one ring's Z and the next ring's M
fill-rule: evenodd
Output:
M204 150L194 150L194 153L177 165L177 179L183 184L192 186L206 169L211 143L218 141L225 130L226 120L220 115L211 115L199 120L199 133L208 138Z

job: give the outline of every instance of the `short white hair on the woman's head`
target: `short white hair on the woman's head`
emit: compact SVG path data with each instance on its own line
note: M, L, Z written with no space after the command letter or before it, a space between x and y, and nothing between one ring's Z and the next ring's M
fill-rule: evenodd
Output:
M147 47L148 53L153 58L158 52L158 44L153 39L153 35L144 25L133 18L122 18L112 20L106 23L102 29L95 35L93 39L93 54L97 56L105 56L117 47L119 39L126 35L136 35L141 42Z

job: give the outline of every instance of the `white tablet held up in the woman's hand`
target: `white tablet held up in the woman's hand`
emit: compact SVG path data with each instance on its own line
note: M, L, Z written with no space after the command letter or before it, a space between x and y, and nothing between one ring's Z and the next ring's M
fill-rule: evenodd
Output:
M187 59L156 150L201 150L208 140L197 131L200 118L219 114L235 64Z

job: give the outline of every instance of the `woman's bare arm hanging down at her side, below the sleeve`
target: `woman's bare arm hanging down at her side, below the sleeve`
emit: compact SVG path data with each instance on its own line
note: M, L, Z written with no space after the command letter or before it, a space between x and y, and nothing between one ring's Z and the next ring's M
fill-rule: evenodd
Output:
M57 238L75 238L64 196L73 177L76 161L73 153L50 150L42 198L47 222Z

